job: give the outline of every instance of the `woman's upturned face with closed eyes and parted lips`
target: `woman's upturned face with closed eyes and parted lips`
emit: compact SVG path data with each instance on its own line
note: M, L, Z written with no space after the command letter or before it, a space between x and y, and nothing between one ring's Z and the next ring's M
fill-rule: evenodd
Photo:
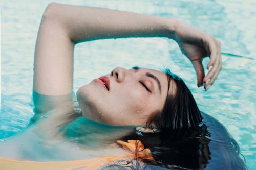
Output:
M172 82L169 93L174 90ZM80 87L77 100L82 114L96 122L145 125L152 113L163 109L167 92L168 78L163 72L117 67L111 74Z

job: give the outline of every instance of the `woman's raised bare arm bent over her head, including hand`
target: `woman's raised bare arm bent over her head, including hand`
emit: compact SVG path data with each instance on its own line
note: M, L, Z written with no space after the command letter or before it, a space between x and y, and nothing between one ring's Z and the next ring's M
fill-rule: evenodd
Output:
M212 61L212 58L217 57L212 55L217 54L218 47L211 41L216 40L195 28L192 31L187 31L186 28L191 27L173 18L50 4L42 17L38 31L33 89L45 95L70 93L73 87L74 44L96 39L168 37L178 42L183 53L193 61L194 66L194 61L201 61L209 54L210 64L215 63L216 59ZM214 76L207 75L208 79L212 78L211 84L218 75L217 66L212 66L215 72L211 70L209 74ZM203 77L200 78L201 82Z

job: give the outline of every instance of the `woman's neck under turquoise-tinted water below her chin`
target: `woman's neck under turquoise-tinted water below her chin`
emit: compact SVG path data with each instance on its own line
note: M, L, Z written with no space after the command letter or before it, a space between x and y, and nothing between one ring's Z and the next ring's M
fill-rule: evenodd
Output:
M101 148L131 133L134 126L111 126L82 116L61 129L63 136L82 148Z

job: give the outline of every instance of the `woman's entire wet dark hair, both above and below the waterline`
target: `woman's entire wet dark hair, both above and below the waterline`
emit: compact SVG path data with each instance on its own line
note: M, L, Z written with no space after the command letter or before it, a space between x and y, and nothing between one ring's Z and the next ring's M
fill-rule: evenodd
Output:
M140 140L145 148L151 150L155 165L167 169L198 170L209 166L209 169L245 170L246 166L239 156L239 145L224 126L200 112L193 95L180 77L169 69L164 72L168 79L168 90L173 81L176 91L170 94L168 91L163 109L153 113L147 120L148 127L153 128L155 125L160 131L143 133L136 130L120 140Z

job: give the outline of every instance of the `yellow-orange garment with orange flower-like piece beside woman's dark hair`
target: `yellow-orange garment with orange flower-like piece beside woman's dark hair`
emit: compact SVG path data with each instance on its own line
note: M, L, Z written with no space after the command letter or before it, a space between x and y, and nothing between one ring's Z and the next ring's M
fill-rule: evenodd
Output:
M77 168L81 168L83 170L95 170L104 166L105 164L126 157L136 157L137 159L139 158L141 160L151 161L153 164L155 163L155 160L151 155L150 149L144 149L144 145L141 143L140 140L128 140L127 142L117 140L117 143L122 145L123 149L130 152L131 154L120 156L105 156L86 160L55 162L20 161L0 158L0 167L5 170L72 170Z

